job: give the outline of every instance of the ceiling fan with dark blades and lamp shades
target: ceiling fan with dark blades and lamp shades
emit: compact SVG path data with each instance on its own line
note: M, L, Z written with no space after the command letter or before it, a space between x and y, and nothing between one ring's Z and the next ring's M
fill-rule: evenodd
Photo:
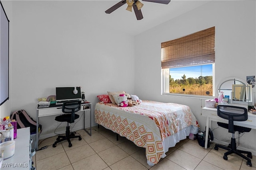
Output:
M155 2L159 4L169 4L170 0L142 0L147 2ZM114 6L110 7L108 10L105 11L106 14L110 14L114 10L118 9L119 7L127 4L126 10L132 12L132 8L134 9L134 13L136 15L137 20L141 20L143 18L141 8L143 4L139 0L122 0L115 4Z

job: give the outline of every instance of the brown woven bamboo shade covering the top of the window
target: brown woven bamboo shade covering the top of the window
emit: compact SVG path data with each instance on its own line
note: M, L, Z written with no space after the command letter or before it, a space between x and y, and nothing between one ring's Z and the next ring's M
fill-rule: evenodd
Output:
M161 43L162 68L215 63L215 27Z

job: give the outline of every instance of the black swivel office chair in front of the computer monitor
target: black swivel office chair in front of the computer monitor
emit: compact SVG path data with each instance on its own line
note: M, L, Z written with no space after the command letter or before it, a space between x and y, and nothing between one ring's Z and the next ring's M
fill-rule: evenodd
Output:
M56 144L68 140L68 147L72 147L72 143L70 142L70 139L72 138L77 138L79 141L82 140L81 136L74 135L74 132L70 133L70 127L69 123L74 123L76 119L79 118L79 115L75 114L75 112L79 111L81 107L81 101L69 101L69 102L64 102L62 105L62 112L63 113L70 113L70 114L63 114L55 117L56 121L64 122L66 121L68 123L66 127L66 136L58 136L52 147L56 147ZM60 139L62 138L62 139Z

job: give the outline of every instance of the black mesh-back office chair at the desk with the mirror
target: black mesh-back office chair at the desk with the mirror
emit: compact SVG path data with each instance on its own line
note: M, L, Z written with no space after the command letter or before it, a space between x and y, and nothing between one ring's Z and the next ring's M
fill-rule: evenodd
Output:
M250 132L251 129L248 127L241 127L234 125L234 121L246 121L248 119L248 111L244 107L237 107L237 106L230 106L230 105L218 105L217 106L217 114L219 117L223 119L228 119L227 123L217 122L220 127L224 127L228 129L229 133L232 133L231 143L228 147L223 145L216 144L214 149L218 150L218 148L226 149L228 152L224 153L223 159L228 160L228 155L235 153L242 158L246 159L246 164L248 166L252 166L252 162L249 158L252 158L252 152L238 150L236 149L236 139L235 139L235 132L238 131L239 133ZM247 154L247 157L243 154Z

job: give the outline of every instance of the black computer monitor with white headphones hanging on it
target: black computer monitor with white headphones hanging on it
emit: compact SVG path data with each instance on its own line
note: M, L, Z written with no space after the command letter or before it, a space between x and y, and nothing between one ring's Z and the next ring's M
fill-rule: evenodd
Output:
M56 102L68 100L82 100L81 88L76 87L78 91L74 94L75 87L56 87Z

